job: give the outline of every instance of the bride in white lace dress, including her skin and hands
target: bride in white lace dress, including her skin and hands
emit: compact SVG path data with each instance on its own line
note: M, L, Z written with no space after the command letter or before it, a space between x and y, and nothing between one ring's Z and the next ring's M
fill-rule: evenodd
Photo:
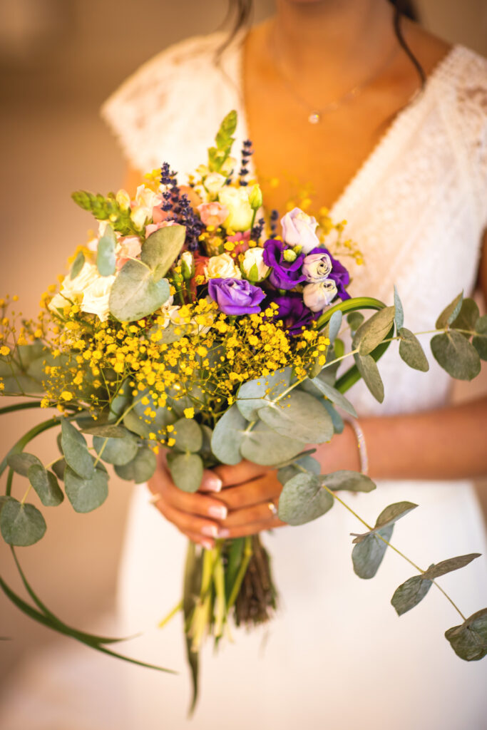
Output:
M282 214L309 185L310 210L326 204L348 221L364 255L363 266L351 264L352 296L391 301L395 283L407 326L423 331L461 289L483 283L487 294L487 61L386 0L276 0L274 17L250 31L250 1L233 4L241 22L231 38L165 50L104 104L130 163L128 187L163 161L181 180L236 109L234 149L252 139L268 210ZM418 503L395 542L424 566L485 553L469 479L487 472L487 399L450 405L445 372L434 362L428 373L401 367L391 350L382 406L362 383L350 393L377 490L349 502L370 520L391 502ZM327 472L364 467L350 426L318 458ZM389 551L374 580L358 580L349 536L358 523L340 505L301 528L282 526L269 510L281 488L275 472L245 462L207 473L194 495L177 491L164 464L149 486L131 506L120 612L127 632L147 629L127 651L180 674L128 669L129 727L485 727L487 666L461 661L442 635L459 615L431 591L398 618L389 601L410 567ZM218 656L207 646L190 724L181 622L155 628L180 596L185 535L212 545L271 528L277 615L249 634L235 630ZM479 610L486 559L442 585L465 615Z

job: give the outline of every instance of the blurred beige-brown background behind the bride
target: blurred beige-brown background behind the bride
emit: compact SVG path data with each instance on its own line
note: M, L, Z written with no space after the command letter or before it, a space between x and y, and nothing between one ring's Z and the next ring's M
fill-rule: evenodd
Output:
M261 18L272 2L256 6ZM426 27L487 55L486 0L420 0L417 7ZM0 0L0 294L17 293L26 315L37 313L39 295L91 225L71 191L106 192L122 183L124 163L99 119L101 101L151 55L215 30L225 14L226 0ZM457 397L479 390L487 390L485 372ZM38 413L3 418L2 455L38 419ZM33 450L45 461L55 456L49 435ZM17 489L22 493L23 484ZM112 608L129 495L128 483L114 478L96 512L77 515L69 504L44 510L45 538L18 550L47 606L74 626L91 629ZM20 590L3 544L0 556L2 577ZM12 639L0 645L0 677L12 677L15 665L55 636L3 594L0 615L0 634Z

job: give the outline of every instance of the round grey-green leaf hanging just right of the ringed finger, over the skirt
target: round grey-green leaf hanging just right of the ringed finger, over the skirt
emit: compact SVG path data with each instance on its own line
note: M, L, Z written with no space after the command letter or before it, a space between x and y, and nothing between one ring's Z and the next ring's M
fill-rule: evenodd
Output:
M288 525L304 525L331 510L334 499L318 477L298 474L285 483L280 493L279 519Z

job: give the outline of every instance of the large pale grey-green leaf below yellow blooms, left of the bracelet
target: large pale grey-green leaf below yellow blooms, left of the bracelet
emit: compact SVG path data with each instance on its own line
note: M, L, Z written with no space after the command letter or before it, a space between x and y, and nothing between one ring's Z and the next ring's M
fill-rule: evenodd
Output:
M321 444L333 437L333 422L320 401L308 393L292 391L278 403L258 410L258 417L284 437L292 434L304 443Z

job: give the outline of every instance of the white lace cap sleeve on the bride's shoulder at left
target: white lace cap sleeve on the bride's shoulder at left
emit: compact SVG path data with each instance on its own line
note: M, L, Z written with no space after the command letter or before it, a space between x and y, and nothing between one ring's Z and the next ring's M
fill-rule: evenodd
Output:
M221 121L222 95L228 110L234 103L234 85L215 64L222 38L193 37L169 47L104 102L101 116L134 169L147 172L168 161L185 173L205 158Z

